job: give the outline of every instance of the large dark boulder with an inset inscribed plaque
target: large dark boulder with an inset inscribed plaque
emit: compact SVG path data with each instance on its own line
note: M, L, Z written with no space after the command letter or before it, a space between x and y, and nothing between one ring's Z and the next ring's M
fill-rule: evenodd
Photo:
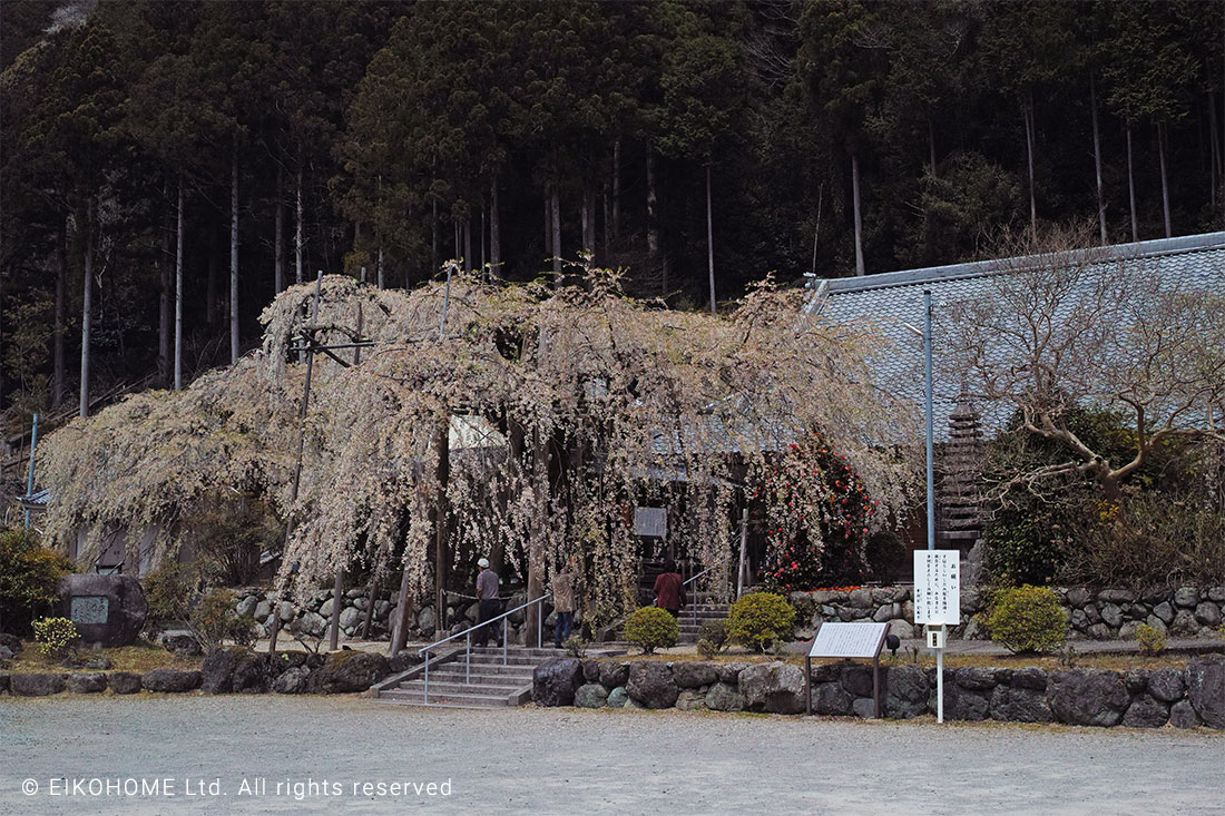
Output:
M131 646L145 627L148 604L132 576L72 573L60 578L59 589L60 614L86 643Z

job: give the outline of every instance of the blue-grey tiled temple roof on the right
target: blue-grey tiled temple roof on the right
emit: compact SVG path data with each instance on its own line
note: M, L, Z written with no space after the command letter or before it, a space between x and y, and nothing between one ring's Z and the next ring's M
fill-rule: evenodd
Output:
M1085 270L1088 273L1096 265L1126 261L1126 268L1133 270L1138 276L1160 276L1189 290L1225 292L1225 233L1118 244L1098 252L1100 255L1095 255L1094 265ZM820 312L835 323L870 323L891 339L894 343L893 352L872 361L877 381L893 393L915 399L921 408L922 341L907 323L922 328L924 290L931 290L932 319L938 325L941 312L951 306L990 297L995 290L991 282L993 276L1067 263L1069 257L1072 254L1054 254L816 281L816 292L806 309ZM948 417L953 412L960 383L941 381L940 333L933 333L933 415L936 440L942 441L947 436ZM913 354L904 353L905 349L913 349ZM997 425L1001 419L989 415L984 418L984 424ZM922 426L915 431L921 437Z

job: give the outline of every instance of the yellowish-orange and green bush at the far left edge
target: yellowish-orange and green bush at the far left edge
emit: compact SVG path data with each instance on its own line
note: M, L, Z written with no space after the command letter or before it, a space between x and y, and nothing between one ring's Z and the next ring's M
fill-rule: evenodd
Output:
M29 625L59 603L59 583L72 564L22 529L0 532L0 631L29 632Z

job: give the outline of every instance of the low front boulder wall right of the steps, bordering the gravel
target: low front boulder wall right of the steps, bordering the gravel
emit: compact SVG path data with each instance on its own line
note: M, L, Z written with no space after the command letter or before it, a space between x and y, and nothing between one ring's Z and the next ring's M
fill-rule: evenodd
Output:
M804 669L786 663L578 660L537 668L540 706L679 708L797 714L805 711ZM884 717L936 712L936 670L881 667ZM832 663L812 668L812 711L872 717L872 669ZM944 670L944 718L1069 725L1225 729L1225 657L1192 658L1186 669L960 668Z

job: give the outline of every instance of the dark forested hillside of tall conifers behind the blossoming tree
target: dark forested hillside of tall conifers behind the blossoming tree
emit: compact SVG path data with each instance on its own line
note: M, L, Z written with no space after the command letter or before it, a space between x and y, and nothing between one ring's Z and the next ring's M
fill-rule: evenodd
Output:
M462 256L522 281L586 250L709 309L772 270L953 262L1051 223L1160 238L1225 210L1220 2L0 15L13 419L75 404L86 358L92 393L230 363L320 268L410 287Z

